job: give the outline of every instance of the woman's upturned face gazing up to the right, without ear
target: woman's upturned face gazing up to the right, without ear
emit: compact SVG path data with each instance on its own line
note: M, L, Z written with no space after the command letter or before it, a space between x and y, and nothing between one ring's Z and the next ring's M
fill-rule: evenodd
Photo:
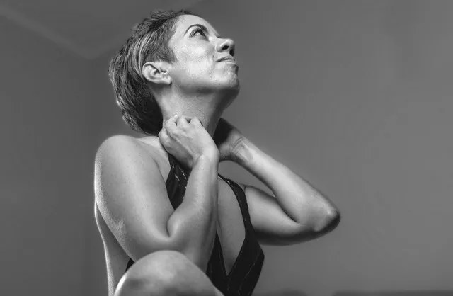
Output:
M168 46L176 57L168 74L180 91L238 93L239 67L233 58L234 42L221 38L203 18L180 16Z

